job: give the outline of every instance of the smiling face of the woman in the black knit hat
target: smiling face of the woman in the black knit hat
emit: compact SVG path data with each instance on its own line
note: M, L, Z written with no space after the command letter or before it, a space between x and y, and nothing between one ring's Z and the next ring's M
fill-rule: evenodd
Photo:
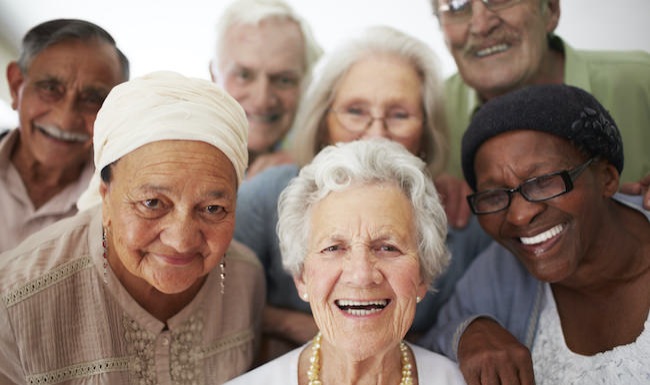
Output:
M568 170L586 158L560 137L538 131L511 131L486 141L474 161L477 191L514 188L543 174ZM512 196L510 207L479 215L481 226L510 250L535 277L561 282L587 264L603 226L606 193L587 167L568 193L544 202Z

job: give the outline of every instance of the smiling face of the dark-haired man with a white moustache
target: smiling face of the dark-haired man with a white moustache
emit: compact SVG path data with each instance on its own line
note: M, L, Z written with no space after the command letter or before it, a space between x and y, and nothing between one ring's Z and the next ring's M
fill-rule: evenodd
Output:
M123 80L115 48L63 41L36 55L26 73L10 64L7 77L20 124L15 159L57 169L88 161L97 111Z

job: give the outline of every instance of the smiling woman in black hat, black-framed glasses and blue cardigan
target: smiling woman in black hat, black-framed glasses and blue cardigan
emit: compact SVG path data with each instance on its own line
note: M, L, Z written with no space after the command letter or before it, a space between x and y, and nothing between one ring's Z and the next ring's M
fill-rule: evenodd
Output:
M578 88L534 86L476 113L468 202L498 243L427 336L468 384L649 383L650 213L617 193L622 169L615 122Z

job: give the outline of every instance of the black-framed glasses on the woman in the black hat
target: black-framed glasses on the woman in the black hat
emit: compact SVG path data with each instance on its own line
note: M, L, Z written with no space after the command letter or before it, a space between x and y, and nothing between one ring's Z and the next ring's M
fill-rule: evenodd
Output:
M476 215L492 214L510 207L512 194L518 192L528 202L543 202L573 190L573 182L596 158L570 169L552 172L528 179L512 189L479 191L467 196L467 202Z

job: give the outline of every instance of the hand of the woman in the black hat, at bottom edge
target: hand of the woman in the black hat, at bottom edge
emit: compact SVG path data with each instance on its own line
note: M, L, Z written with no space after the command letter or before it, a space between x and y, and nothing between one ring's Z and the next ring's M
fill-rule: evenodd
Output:
M458 345L458 363L468 385L532 385L530 351L488 318L473 321Z

